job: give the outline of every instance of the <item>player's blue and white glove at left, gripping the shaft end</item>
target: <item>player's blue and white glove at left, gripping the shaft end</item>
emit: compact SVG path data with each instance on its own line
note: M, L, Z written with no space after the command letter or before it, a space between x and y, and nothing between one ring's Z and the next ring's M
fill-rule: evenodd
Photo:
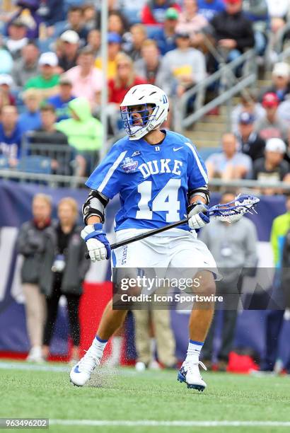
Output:
M111 257L110 243L103 231L103 224L91 224L81 231L81 237L86 242L91 261L105 260Z

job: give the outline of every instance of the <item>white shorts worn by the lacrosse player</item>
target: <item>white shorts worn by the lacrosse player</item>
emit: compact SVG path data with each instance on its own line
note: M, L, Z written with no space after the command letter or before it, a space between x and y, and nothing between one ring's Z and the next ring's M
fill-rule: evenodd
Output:
M116 241L123 241L146 231L140 229L117 231ZM112 250L112 267L163 268L164 270L187 268L191 275L192 269L208 269L214 276L219 275L213 256L207 246L197 239L197 233L182 229L171 229Z

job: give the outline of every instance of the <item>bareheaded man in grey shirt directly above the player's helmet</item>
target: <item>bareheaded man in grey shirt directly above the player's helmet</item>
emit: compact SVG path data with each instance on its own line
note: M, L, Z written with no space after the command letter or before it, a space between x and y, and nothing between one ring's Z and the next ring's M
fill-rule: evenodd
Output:
M140 76L149 84L162 87L163 83L159 79L161 56L155 40L146 39L144 41L141 56L141 59L137 60L134 64L137 76Z

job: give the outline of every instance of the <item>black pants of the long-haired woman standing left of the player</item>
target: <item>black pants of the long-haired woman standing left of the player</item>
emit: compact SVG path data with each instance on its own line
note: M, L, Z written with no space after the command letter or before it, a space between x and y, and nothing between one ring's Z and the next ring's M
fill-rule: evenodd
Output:
M45 323L45 331L43 337L43 344L49 346L50 340L54 330L54 324L57 321L57 310L59 306L59 298L62 296L60 290L62 286L62 278L59 276L54 277L52 287L52 294L47 298L47 320ZM69 329L71 339L74 346L79 346L80 342L80 325L79 325L79 301L81 295L64 294L67 301L67 310L69 313Z

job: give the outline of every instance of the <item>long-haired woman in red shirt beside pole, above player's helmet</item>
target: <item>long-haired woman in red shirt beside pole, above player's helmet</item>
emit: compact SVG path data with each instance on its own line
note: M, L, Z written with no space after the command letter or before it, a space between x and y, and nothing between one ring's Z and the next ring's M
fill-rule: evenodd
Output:
M120 103L124 99L129 88L137 84L146 84L147 81L137 76L131 57L124 52L116 56L117 74L115 79L108 81L108 114L110 115L110 125L114 133L120 129L118 121L120 119ZM121 127L121 125L120 125Z

